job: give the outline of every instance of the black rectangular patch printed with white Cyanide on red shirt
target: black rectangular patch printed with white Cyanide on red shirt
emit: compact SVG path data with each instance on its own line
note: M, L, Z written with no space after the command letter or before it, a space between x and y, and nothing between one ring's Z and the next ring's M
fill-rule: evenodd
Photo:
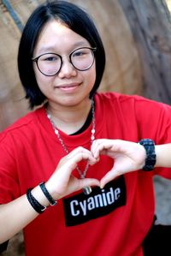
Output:
M126 205L126 184L123 176L103 189L92 188L89 195L78 193L63 199L66 226L75 226L102 217Z

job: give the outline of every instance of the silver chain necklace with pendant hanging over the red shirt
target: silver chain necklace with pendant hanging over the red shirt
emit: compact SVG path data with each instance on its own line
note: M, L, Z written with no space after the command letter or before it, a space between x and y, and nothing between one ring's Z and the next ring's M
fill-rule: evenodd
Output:
M95 140L95 132L96 132L96 130L95 130L96 122L95 122L95 111L94 111L94 100L93 99L91 99L91 111L92 111L92 128L91 128L91 145L92 145L92 142ZM60 143L62 145L63 150L68 154L69 153L68 152L68 148L67 148L67 146L65 146L65 144L64 144L64 142L62 140L62 137L61 137L58 129L56 128L56 124L55 124L55 122L53 122L51 114L47 110L47 108L46 108L46 115L47 115L48 119L50 120L50 123L51 123L51 125L52 125L52 127L54 129L54 132L55 132L58 140L60 141ZM86 172L87 172L88 168L89 168L88 162L86 163L85 170L83 172L80 170L80 168L78 166L76 167L76 170L78 171L81 179L85 178ZM91 193L91 187L83 188L83 193L85 193L85 194Z

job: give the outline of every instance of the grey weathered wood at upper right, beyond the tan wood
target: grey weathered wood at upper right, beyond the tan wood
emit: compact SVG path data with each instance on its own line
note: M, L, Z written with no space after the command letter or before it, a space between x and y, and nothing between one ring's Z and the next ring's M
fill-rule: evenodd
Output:
M144 96L171 104L171 17L164 0L119 0L142 64Z

